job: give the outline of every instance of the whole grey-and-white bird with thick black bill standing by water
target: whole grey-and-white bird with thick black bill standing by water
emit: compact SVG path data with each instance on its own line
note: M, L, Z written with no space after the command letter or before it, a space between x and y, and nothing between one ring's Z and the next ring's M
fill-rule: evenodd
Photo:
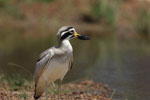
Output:
M73 48L69 40L78 38L89 40L88 36L78 34L72 26L62 26L57 32L58 46L53 46L42 52L37 59L34 72L34 99L37 100L46 92L48 100L48 86L58 80L57 97L60 100L60 89L64 76L72 68Z

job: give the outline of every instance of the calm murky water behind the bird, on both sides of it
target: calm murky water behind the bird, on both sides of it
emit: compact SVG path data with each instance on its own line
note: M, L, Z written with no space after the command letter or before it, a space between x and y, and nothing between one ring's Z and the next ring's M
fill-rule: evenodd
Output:
M1 40L0 43L0 72L21 73L25 78L29 77L28 73L34 72L39 53L56 45L55 36L47 39L12 37L8 41ZM148 41L109 36L71 42L74 48L74 66L65 77L66 82L88 77L116 90L114 100L150 99ZM24 67L26 71L19 67Z

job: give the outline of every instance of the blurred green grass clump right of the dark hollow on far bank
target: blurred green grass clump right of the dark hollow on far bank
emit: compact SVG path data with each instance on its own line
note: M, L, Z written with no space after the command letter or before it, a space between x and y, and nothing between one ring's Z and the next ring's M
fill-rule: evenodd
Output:
M104 20L105 23L114 26L118 12L119 3L109 2L108 0L98 0L91 6L91 14L98 21Z

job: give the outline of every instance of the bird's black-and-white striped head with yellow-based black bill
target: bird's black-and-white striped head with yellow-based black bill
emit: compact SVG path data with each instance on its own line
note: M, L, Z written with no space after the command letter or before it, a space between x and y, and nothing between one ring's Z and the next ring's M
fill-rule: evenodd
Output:
M83 36L78 34L76 30L71 26L63 26L58 30L57 37L59 41L70 40L73 38L78 38L80 40L89 40L90 38L87 36Z

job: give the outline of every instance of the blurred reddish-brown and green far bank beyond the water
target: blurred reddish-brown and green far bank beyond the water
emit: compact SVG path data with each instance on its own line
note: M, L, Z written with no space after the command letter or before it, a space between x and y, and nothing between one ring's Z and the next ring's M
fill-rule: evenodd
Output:
M115 27L116 30L120 27L126 28L122 24L122 22L125 22L128 24L128 26L133 24L135 26L133 28L137 30L137 33L149 33L150 14L148 7L145 7L144 1L141 1L140 5L135 4L134 6L135 8L139 7L139 9L136 9L137 12L133 12L134 10L132 11L132 9L135 8L131 5L131 10L129 10L127 13L123 13L125 12L125 9L128 9L124 8L124 6L126 7L128 4L130 5L130 2L137 1L86 0L82 1L81 3L77 1L62 3L58 0L22 0L19 2L17 0L0 0L0 25L2 25L4 28L4 30L2 28L1 33L9 34L12 32L29 34L30 31L33 31L32 34L37 32L37 34L44 35L49 34L48 27L52 27L51 31L56 31L57 27L60 25L59 22L61 22L63 25L65 24L63 22L69 21L71 23L77 22L82 24L86 24L90 21L97 25L104 26L105 30L107 30L108 26L109 28ZM74 10L76 4L78 4L78 8ZM85 4L86 9L88 9L87 11L82 10L82 4ZM57 9L57 6L60 5L63 9ZM41 9L35 10L35 8ZM68 13L71 11L74 13ZM60 14L55 12L59 12ZM132 13L134 13L134 15L132 15ZM66 16L62 16L62 14L66 14ZM125 15L128 18L124 17ZM84 22L81 22L81 17L77 17L76 20L73 20L73 16L83 16ZM62 19L65 19L65 21ZM134 21L130 19L134 19ZM29 28L33 27L32 24L34 24L34 28L30 30Z

